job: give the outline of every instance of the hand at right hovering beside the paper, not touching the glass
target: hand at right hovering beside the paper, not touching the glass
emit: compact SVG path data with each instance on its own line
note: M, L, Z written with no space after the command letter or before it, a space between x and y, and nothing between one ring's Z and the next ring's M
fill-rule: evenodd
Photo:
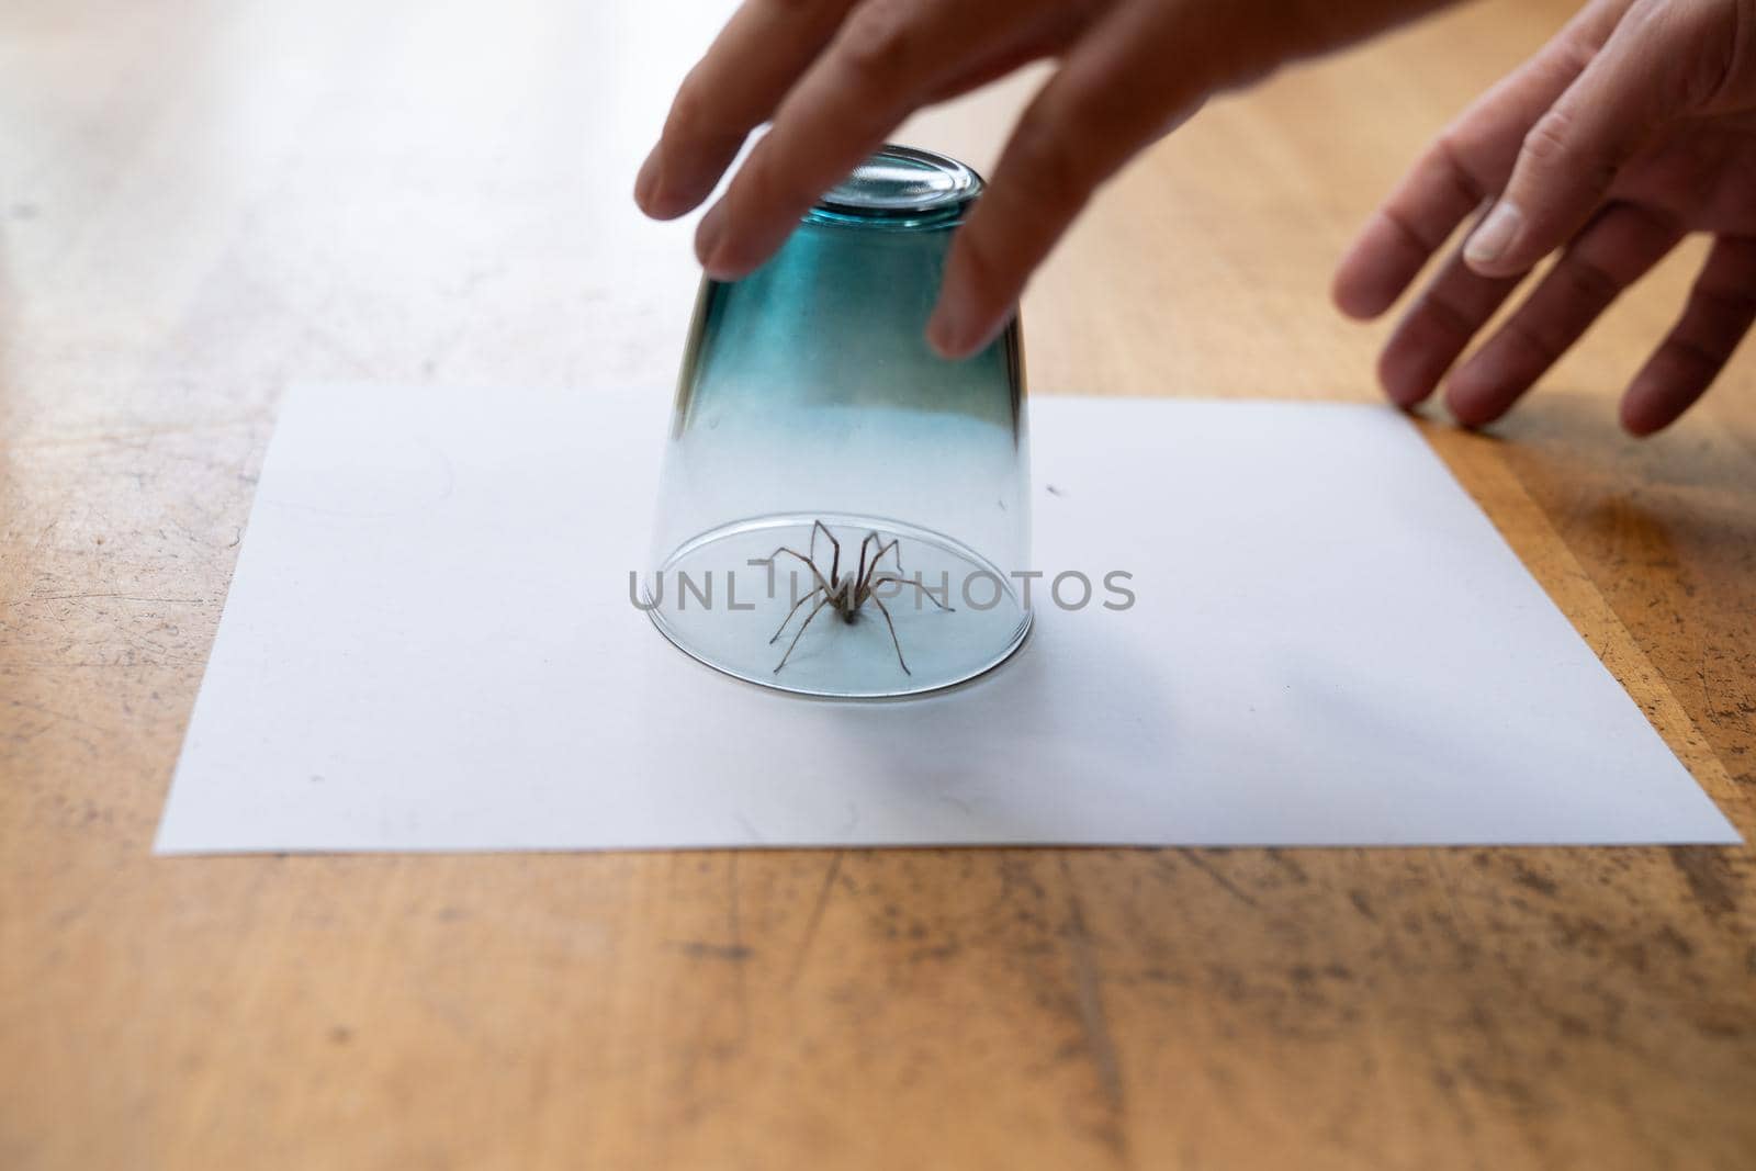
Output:
M1675 421L1756 318L1756 9L1594 0L1415 163L1343 258L1336 304L1356 318L1384 313L1489 200L1385 344L1385 393L1403 407L1433 393L1559 249L1445 386L1457 421L1491 423L1686 233L1710 232L1682 316L1621 406L1635 435Z

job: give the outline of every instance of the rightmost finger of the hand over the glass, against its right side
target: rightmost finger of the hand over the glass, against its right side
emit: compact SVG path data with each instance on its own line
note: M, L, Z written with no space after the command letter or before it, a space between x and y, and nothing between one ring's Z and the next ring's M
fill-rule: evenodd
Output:
M1206 16L1206 5L1196 7ZM1201 104L1212 88L1201 63L1215 58L1201 42L1213 33L1192 16L1185 5L1113 11L1026 107L945 262L927 327L941 355L987 346L1098 184ZM1166 44L1185 46L1191 65L1164 68Z

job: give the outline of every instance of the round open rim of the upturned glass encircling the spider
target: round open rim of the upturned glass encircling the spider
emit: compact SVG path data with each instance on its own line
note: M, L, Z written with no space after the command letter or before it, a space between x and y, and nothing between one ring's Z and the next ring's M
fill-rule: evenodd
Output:
M987 558L871 516L723 525L676 550L643 592L653 625L685 653L801 695L934 692L997 667L1031 632L1031 611Z

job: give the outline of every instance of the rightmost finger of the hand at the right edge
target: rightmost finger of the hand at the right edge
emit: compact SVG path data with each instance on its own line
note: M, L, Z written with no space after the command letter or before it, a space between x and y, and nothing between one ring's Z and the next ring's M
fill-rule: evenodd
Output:
M1623 397L1623 427L1651 435L1677 421L1756 321L1756 241L1719 237L1675 328Z

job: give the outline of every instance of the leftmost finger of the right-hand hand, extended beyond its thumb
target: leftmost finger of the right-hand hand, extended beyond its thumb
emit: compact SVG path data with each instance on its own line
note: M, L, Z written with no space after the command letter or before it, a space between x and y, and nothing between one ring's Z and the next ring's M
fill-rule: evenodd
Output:
M1457 225L1505 186L1524 132L1579 77L1626 7L1586 9L1426 149L1336 267L1331 297L1342 313L1375 318L1396 304Z

